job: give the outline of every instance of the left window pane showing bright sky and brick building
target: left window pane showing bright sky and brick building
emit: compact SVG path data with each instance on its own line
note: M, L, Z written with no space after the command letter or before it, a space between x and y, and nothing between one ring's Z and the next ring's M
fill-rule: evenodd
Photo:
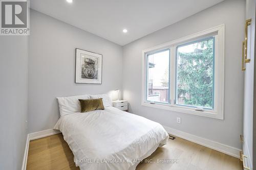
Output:
M169 103L169 53L147 55L147 101Z

